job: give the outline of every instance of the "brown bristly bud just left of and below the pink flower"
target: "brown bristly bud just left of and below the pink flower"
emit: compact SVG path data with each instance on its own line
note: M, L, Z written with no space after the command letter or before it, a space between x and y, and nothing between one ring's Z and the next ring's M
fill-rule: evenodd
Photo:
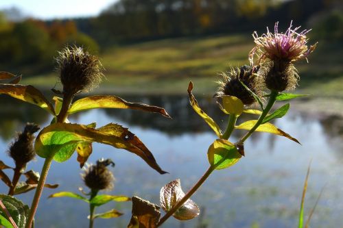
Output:
M219 81L220 87L215 93L215 97L230 95L239 98L244 105L252 105L255 103L255 98L241 84L244 83L252 92L258 96L261 94L261 89L258 84L257 75L255 73L259 67L252 68L251 66L241 66L241 68L232 68L228 75L223 73L223 81Z

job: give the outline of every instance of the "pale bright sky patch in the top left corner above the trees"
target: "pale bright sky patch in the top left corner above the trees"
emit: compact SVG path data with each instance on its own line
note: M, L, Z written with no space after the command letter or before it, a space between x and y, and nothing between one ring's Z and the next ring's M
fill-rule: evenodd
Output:
M40 19L97 16L117 0L0 0L0 10L19 8Z

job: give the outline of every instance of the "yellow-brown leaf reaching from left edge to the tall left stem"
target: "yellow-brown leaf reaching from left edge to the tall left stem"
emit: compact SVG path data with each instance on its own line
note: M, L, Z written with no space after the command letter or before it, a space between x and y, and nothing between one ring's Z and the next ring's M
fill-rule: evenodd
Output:
M8 94L11 97L38 105L55 116L54 107L47 101L42 92L34 86L0 84L0 94Z

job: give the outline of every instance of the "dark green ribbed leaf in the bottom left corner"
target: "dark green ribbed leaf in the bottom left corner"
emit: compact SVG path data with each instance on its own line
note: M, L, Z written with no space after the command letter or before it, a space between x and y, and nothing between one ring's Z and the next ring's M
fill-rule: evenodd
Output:
M23 204L19 199L14 197L10 197L5 194L0 194L0 199L5 205L6 209L12 216L14 222L19 228L24 228L26 224L26 220L29 216L29 206ZM7 218L5 213L1 210L1 216Z

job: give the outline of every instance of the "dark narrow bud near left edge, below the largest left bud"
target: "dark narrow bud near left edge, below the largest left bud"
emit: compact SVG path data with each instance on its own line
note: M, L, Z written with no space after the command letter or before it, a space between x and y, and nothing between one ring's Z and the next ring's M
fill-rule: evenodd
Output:
M39 130L38 125L27 123L24 131L19 133L16 140L10 145L8 154L13 158L16 168L23 168L27 162L34 159L34 133Z

